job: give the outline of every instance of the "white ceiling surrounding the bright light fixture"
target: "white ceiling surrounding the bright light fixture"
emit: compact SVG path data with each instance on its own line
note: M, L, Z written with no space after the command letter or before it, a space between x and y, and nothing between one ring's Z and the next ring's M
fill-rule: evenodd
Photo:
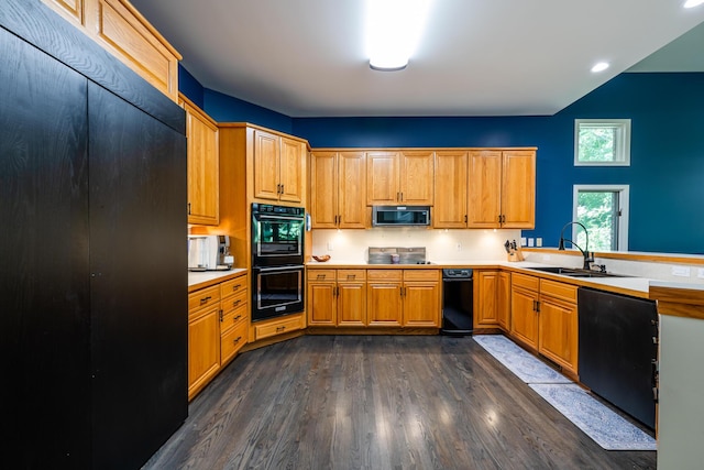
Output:
M400 72L370 69L364 0L132 3L202 86L290 117L549 116L700 23L632 70L704 72L684 0L436 0Z

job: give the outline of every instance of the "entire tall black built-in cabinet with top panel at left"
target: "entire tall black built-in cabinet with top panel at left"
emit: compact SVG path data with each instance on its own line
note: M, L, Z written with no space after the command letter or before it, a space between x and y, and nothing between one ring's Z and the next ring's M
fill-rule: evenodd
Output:
M139 468L187 415L184 111L38 0L0 6L8 468Z

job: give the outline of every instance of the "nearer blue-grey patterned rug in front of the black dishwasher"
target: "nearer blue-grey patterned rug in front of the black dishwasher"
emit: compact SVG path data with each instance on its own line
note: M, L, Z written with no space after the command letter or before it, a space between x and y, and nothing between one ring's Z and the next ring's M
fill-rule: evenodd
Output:
M604 406L578 384L528 384L606 450L657 450L648 434Z

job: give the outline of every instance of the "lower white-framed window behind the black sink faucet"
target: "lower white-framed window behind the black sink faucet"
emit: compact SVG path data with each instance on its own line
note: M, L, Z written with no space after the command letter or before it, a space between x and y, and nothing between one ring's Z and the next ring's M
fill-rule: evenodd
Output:
M574 218L586 227L590 251L628 250L628 185L575 185ZM572 227L572 240L586 250L586 234Z

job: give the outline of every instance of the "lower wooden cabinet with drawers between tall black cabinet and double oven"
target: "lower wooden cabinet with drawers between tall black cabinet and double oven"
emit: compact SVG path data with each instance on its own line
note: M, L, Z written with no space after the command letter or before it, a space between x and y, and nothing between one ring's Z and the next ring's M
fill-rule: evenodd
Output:
M188 400L248 342L248 275L188 295Z

